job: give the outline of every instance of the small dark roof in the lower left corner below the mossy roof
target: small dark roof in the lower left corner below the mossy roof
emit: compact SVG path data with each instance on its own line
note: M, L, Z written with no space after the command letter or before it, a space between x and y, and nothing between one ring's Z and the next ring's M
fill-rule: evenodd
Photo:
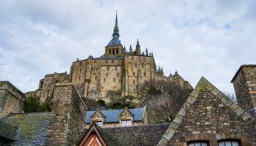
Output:
M11 126L8 123L4 123L0 120L0 137L6 139L15 140L17 136L18 127Z

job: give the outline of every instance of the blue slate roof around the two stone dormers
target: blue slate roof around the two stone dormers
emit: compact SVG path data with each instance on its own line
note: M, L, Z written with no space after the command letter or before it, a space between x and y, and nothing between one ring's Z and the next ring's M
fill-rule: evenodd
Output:
M110 122L119 122L119 118L118 115L120 115L120 113L123 110L100 110L100 112L103 113L103 115L106 116L105 118L105 123L110 123ZM135 108L135 109L129 109L130 112L132 112L132 114L134 114L134 121L142 121L143 120L143 112L144 112L144 108ZM93 115L95 112L94 111L88 111L86 114L86 123L91 123L91 115Z

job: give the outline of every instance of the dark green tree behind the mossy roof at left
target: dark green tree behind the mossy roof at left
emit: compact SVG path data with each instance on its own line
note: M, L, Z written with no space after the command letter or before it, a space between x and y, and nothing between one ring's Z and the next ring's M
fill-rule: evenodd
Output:
M50 112L49 105L41 104L38 97L28 97L23 105L24 112Z

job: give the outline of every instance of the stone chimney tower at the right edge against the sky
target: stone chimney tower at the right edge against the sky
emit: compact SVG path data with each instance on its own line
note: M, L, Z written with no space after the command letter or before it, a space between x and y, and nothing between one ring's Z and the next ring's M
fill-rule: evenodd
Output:
M238 105L256 117L256 64L241 65L231 82Z

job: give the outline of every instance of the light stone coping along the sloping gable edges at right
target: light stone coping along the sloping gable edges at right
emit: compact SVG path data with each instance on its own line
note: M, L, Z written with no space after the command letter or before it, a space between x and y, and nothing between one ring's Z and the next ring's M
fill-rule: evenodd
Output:
M180 126L182 120L187 115L187 112L191 110L192 104L195 102L195 100L199 96L200 92L203 91L203 89L208 89L208 91L211 91L211 93L213 93L214 96L217 96L217 98L220 99L223 104L229 107L230 110L233 110L233 112L235 112L236 115L241 117L241 119L243 119L244 122L253 124L253 127L256 129L255 118L253 118L243 109L241 109L241 107L239 107L236 103L231 101L231 99L225 96L224 93L222 93L221 91L219 91L219 89L212 85L211 82L206 80L205 77L201 77L195 89L192 91L192 93L190 93L187 101L184 103L183 107L181 107L181 110L176 115L176 118L174 118L173 122L170 123L169 128L163 135L162 139L159 141L158 145L166 145L167 142L173 137L173 135L176 133L176 129L178 128L178 126Z

